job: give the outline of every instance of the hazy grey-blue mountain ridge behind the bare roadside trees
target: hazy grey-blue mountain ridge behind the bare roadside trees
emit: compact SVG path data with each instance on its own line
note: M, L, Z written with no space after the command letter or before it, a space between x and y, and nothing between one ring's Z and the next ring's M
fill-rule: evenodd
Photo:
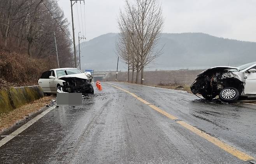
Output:
M117 36L118 33L107 33L82 42L82 70L115 69ZM205 33L162 33L157 48L161 47L163 54L150 67L239 65L254 61L256 52L256 42ZM119 68L126 69L126 65L120 63Z

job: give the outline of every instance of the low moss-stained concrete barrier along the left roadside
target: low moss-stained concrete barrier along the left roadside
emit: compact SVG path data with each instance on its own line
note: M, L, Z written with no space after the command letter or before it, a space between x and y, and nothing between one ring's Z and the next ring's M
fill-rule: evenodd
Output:
M0 90L0 114L10 112L21 105L42 97L44 97L44 92L40 86L25 86Z

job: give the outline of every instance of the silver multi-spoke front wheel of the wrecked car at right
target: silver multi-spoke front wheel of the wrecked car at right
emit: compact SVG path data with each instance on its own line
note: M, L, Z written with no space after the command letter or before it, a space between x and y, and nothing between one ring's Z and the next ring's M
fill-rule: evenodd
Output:
M239 91L233 87L224 88L219 93L219 98L224 102L234 102L239 98Z

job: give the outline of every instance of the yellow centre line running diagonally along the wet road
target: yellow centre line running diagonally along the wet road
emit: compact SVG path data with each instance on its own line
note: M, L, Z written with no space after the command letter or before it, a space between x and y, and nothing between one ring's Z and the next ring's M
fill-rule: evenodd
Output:
M111 85L111 84L110 84ZM114 86L114 85L112 85ZM133 97L137 98L138 100L140 100L141 102L143 102L144 104L148 105L149 107L151 107L152 109L160 112L161 114L163 114L164 116L167 116L168 118L172 119L172 120L178 120L177 117L165 112L164 110L156 107L155 105L150 104L149 102L147 102L146 100L143 100L142 98L140 98L139 96L135 95L134 93L131 93L130 91L124 90L122 88L119 88L117 86L114 86L122 91L125 91L126 93L129 93L130 95L132 95ZM217 138L208 135L207 133L201 131L200 129L195 128L194 126L191 126L190 124L184 122L184 121L176 121L178 124L180 124L181 126L183 126L184 128L192 131L193 133L195 133L198 136L201 136L202 138L206 139L207 141L213 143L214 145L216 145L217 147L225 150L226 152L234 155L235 157L237 157L240 160L243 161L249 161L249 160L254 160L254 158L244 152L241 152L240 150L237 150L236 148L231 147L230 145L222 142L221 140L218 140Z

